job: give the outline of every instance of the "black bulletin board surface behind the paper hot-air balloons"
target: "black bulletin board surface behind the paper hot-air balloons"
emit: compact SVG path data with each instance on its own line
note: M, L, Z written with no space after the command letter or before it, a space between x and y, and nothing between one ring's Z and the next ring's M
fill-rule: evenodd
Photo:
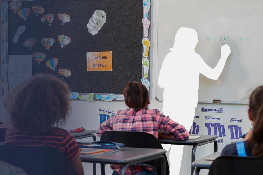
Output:
M21 8L30 8L30 14L24 21L8 9L8 55L32 55L43 52L46 59L37 65L32 60L32 75L37 73L53 74L62 78L58 69L65 67L72 72L64 79L72 92L115 93L122 94L128 81L142 78L142 1L123 0L51 0L21 1ZM32 6L40 5L45 9L36 17ZM95 10L103 10L107 21L101 30L92 35L87 24ZM55 15L51 26L41 22L41 17L52 13ZM71 21L61 25L58 13L66 13ZM16 30L25 25L25 32L17 43L13 42ZM71 43L60 47L58 35L71 38ZM149 29L150 36L150 29ZM31 51L25 48L24 41L36 38L37 44ZM42 38L53 38L55 44L46 50L41 44ZM149 38L149 37L148 37ZM86 52L112 51L113 71L87 71ZM45 62L58 58L56 71L46 67ZM148 57L150 59L150 56ZM149 77L148 77L149 78Z

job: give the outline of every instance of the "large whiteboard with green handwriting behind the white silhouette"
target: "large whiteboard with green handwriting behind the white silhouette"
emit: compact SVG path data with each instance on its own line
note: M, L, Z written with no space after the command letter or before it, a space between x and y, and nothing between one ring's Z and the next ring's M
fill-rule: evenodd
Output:
M163 59L177 30L188 27L198 33L195 52L212 68L221 57L221 46L227 43L231 48L218 80L200 74L198 101L247 103L251 91L263 85L262 7L260 0L158 0L156 99L163 101L163 88L158 86Z

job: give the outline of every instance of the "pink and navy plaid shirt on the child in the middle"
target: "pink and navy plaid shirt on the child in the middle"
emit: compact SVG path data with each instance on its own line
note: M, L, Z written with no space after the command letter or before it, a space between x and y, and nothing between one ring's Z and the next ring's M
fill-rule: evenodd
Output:
M115 116L110 117L107 121L103 122L98 130L97 135L101 136L103 132L113 131L137 131L147 132L154 135L158 139L158 129L163 130L165 134L173 134L174 140L187 140L189 132L177 122L174 122L168 116L161 114L157 109L125 109L118 111ZM111 168L120 174L122 165L111 165ZM142 167L135 165L128 167L126 170L127 175L140 174L141 171L153 170L150 167Z

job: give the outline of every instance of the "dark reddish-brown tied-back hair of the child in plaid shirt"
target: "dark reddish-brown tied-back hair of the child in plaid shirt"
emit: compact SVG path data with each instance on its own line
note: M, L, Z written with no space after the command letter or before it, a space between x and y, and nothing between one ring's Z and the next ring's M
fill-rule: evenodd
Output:
M124 88L124 101L129 108L144 108L149 98L147 88L136 81L129 81Z

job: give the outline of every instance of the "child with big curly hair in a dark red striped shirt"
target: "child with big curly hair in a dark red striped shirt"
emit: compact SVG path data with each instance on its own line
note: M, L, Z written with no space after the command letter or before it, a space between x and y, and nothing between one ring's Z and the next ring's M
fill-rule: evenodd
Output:
M4 100L13 125L6 131L4 143L57 149L68 157L78 175L84 175L79 146L66 130L57 127L68 118L69 94L66 83L43 74L14 88Z

